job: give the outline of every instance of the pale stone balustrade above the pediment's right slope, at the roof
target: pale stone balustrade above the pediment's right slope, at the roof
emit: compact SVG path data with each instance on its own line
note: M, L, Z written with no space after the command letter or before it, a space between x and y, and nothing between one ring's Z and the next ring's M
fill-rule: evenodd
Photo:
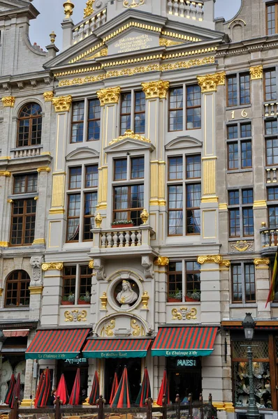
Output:
M168 0L167 13L186 19L203 20L204 4L203 1Z

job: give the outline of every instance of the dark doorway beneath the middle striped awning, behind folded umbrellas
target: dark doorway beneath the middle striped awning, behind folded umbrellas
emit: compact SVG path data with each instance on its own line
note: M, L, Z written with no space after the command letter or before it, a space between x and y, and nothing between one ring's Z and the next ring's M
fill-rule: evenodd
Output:
M136 402L141 383L141 358L115 358L105 360L105 399L109 400L112 390L112 383L115 372L118 380L122 378L124 366L126 365L129 387L131 390L131 401Z

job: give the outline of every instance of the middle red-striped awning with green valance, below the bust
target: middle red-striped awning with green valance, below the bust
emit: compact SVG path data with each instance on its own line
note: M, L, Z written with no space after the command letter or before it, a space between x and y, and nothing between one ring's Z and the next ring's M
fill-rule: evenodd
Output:
M92 339L82 354L85 358L144 358L152 339Z

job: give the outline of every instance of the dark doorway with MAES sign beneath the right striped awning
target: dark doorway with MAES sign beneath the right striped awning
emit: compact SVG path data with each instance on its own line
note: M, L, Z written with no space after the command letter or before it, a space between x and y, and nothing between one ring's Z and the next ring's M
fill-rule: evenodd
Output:
M198 400L202 392L202 369L200 357L197 358L167 358L170 401L175 402L176 395L184 397L192 394L193 400Z

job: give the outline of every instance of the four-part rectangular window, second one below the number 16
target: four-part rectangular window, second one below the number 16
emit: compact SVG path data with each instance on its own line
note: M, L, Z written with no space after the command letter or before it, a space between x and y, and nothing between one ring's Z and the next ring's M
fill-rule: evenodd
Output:
M254 235L253 189L228 191L230 237Z

